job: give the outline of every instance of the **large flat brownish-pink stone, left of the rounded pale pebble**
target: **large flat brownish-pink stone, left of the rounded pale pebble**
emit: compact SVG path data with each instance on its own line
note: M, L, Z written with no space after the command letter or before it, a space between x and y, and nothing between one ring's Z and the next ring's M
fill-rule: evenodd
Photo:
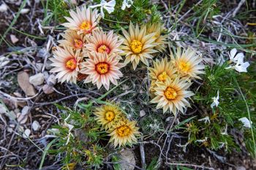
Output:
M26 72L18 72L18 85L26 93L26 96L36 95L33 85L29 82L29 74Z

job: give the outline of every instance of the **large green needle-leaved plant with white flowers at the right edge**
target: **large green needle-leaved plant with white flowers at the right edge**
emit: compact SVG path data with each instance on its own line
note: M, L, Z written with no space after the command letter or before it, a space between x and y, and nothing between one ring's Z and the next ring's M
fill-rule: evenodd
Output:
M206 67L203 85L194 97L195 105L198 106L197 117L187 124L189 143L213 150L239 150L234 134L234 131L238 131L244 135L246 149L255 156L255 126L252 124L252 129L244 128L238 120L241 117L250 117L255 122L256 112L253 108L256 91L252 85L255 81L255 70L250 66L249 74L238 74L234 70L225 69L226 67L227 63ZM211 109L212 98L217 96L218 90L219 106ZM250 108L249 112L247 107Z

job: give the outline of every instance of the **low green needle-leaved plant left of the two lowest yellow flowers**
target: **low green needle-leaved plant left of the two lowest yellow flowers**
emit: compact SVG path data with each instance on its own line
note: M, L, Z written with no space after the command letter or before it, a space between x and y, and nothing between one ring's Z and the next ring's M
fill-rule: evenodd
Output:
M67 168L77 164L99 168L105 156L99 139L104 138L105 134L99 131L99 125L91 117L91 108L74 111L61 105L56 106L61 109L61 120L64 123L53 126L56 142L49 152L54 155L65 154L62 162Z

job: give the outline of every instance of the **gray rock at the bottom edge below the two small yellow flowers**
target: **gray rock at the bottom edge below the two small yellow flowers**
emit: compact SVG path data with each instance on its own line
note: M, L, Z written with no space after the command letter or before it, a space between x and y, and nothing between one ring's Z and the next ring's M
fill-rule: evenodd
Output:
M120 152L119 158L124 161L120 164L121 170L133 170L135 169L135 155L132 150L124 149Z

